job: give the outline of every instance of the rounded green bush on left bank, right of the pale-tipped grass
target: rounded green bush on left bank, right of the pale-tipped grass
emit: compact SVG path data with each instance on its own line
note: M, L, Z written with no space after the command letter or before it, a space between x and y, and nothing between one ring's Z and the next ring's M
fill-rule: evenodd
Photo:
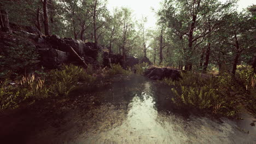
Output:
M78 81L91 83L95 77L75 65L63 65L61 70L51 70L48 75L49 92L56 96L67 96L78 85Z

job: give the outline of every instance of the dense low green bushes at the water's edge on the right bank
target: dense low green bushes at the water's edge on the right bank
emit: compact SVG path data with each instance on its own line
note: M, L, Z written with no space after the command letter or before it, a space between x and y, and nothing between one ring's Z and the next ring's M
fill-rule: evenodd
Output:
M193 73L182 74L182 79L172 88L176 97L172 101L178 106L195 108L214 114L234 116L240 109L234 79L225 74L219 77L203 78ZM237 85L235 85L237 86ZM238 88L242 89L242 87ZM239 91L241 92L241 91Z

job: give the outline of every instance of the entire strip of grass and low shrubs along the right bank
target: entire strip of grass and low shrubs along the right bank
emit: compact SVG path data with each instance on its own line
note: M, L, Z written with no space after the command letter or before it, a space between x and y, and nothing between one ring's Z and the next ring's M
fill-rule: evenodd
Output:
M246 78L247 77L247 78ZM255 77L255 74L254 74ZM182 79L162 82L173 86L174 104L181 108L198 109L214 115L235 116L244 100L255 111L255 88L251 72L239 72L236 77L223 73L217 77L202 77L194 73L182 73ZM253 94L254 93L254 94ZM253 104L254 103L254 104ZM254 114L255 115L255 114Z

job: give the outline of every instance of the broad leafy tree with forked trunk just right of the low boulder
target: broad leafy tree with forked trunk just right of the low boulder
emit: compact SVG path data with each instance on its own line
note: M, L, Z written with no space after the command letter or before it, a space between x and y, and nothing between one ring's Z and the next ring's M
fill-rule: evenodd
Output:
M175 35L183 44L187 45L180 46L182 47L185 70L192 69L192 65L195 63L195 51L218 24L218 20L221 19L221 16L219 18L218 16L223 7L222 4L214 0L166 0L164 2L159 11L160 19L166 23L170 34ZM207 51L210 51L210 46L211 44L208 44Z

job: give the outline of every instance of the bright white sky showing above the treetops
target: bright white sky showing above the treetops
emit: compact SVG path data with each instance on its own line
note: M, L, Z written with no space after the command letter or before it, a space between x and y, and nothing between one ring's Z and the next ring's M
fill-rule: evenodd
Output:
M226 0L219 0L225 2ZM154 28L156 26L155 13L152 10L158 10L160 8L160 0L108 0L108 9L112 11L116 7L128 7L133 10L133 15L137 20L142 16L147 17L146 28ZM249 5L256 4L256 0L240 0L238 2L238 10L247 8Z

